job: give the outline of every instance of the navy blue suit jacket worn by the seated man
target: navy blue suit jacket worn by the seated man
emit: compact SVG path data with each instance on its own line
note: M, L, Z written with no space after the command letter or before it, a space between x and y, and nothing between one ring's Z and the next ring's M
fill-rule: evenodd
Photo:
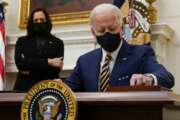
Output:
M101 58L100 48L80 56L74 71L65 83L74 91L98 91ZM133 46L123 42L109 84L129 86L130 78L134 73L152 73L157 77L159 85L167 88L174 85L173 76L156 61L150 46Z

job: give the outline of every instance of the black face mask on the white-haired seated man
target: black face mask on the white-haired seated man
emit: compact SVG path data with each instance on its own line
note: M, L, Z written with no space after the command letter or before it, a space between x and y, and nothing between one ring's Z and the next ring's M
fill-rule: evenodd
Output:
M115 51L120 44L120 36L119 34L112 34L106 32L102 36L96 36L97 42L99 45L104 48L107 52Z

